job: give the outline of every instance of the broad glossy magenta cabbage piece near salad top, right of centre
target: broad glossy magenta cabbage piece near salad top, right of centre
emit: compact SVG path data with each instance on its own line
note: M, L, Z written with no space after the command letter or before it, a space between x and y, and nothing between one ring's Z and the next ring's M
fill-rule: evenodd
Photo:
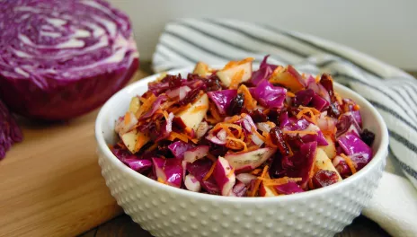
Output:
M263 80L255 88L250 88L249 91L256 101L269 109L282 108L287 95L287 89L274 86L268 80Z

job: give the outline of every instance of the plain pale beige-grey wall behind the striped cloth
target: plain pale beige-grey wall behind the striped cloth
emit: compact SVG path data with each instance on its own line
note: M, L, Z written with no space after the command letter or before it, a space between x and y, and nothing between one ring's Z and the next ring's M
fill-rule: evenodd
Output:
M180 17L234 18L302 31L417 69L416 0L109 0L128 13L149 60L164 24Z

